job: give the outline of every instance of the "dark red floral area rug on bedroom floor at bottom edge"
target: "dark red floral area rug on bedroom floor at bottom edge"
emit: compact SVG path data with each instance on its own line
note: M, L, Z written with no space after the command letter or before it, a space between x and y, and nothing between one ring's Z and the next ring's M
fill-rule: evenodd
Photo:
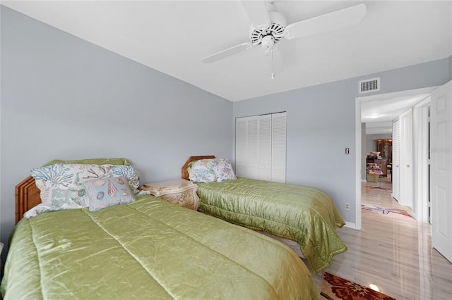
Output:
M396 300L369 287L338 277L331 273L323 273L320 299L326 300Z

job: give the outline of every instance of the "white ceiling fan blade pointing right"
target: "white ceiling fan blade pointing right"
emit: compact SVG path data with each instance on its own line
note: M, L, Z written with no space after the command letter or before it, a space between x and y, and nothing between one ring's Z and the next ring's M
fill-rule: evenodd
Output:
M292 23L285 28L285 38L298 39L299 37L350 27L359 23L366 13L366 5L358 4L340 11Z

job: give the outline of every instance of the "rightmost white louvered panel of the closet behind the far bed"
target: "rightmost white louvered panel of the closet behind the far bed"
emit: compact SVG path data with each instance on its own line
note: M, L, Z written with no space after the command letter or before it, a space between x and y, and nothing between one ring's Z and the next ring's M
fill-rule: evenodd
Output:
M286 146L285 113L272 115L272 161L271 181L285 183L285 146Z

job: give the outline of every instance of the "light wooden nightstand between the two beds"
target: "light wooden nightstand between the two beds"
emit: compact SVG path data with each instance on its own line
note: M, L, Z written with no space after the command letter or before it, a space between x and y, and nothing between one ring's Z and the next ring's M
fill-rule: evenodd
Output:
M182 207L198 210L198 186L184 179L145 183L141 189Z

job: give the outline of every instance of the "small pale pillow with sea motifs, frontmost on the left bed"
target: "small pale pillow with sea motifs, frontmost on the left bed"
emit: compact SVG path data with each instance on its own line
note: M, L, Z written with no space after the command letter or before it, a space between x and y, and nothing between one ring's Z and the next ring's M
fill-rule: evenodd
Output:
M90 211L135 201L127 177L109 176L88 180L84 184Z

